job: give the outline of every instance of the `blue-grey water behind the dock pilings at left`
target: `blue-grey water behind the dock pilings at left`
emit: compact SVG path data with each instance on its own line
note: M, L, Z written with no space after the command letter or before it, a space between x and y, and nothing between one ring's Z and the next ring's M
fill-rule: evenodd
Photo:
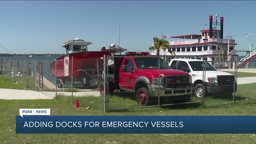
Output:
M0 56L0 68L2 63L4 64L4 60L8 61L8 68L7 70L11 70L11 61L12 65L14 67L18 67L18 62L19 61L19 71L21 71L21 74L24 71L27 71L27 62L30 62L30 68L31 71L35 70L36 66L36 61L42 61L43 62L43 76L48 79L50 82L55 84L55 77L52 77L52 72L51 72L51 63L54 59L57 59L59 56L34 56L34 57L28 57L28 56L10 56L10 57L2 57ZM3 62L2 62L3 61Z

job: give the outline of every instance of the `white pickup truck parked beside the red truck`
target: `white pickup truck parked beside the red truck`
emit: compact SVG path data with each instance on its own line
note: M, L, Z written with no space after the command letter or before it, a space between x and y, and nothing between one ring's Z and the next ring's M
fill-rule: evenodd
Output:
M201 98L203 95L203 60L172 59L169 65L172 69L183 70L191 75L194 95ZM234 75L217 70L209 62L206 62L205 69L205 94L231 95L234 92Z

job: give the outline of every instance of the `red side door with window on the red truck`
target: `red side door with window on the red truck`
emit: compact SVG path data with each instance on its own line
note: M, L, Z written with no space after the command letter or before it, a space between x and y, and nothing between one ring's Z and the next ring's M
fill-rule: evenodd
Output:
M119 86L123 89L133 89L132 86L132 74L134 70L134 65L132 59L126 59L124 65L122 66L119 74Z

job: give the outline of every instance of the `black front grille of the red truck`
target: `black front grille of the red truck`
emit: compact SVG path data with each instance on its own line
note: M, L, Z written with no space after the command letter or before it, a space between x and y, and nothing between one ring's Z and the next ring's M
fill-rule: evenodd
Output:
M189 77L187 75L163 76L162 85L166 88L180 88L189 86Z

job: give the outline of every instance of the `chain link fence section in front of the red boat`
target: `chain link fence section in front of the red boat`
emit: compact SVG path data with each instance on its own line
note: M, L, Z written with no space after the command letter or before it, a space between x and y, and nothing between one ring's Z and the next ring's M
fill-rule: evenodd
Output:
M65 97L67 102L86 108L103 109L104 98L99 85L103 84L103 57L63 57L51 64L55 77L56 95Z

